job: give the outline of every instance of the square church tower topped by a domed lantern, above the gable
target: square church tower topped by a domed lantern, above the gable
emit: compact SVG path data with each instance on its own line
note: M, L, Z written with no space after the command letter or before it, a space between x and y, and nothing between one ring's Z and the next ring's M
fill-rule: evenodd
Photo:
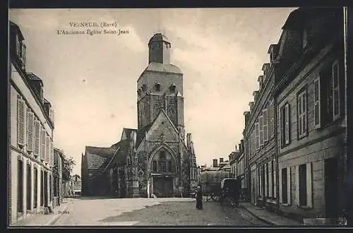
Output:
M170 64L171 48L162 33L148 42L148 66L137 81L138 129L152 124L164 109L184 138L183 73Z

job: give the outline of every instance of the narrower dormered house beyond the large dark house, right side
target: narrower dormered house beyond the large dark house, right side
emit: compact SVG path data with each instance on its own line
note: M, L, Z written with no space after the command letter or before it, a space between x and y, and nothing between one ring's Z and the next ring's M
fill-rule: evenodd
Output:
M271 45L269 52L277 47ZM253 92L250 111L244 112L244 150L246 153L244 179L251 195L251 203L276 208L276 160L273 63L263 64L263 75L258 77L259 89ZM245 186L245 184L244 184Z

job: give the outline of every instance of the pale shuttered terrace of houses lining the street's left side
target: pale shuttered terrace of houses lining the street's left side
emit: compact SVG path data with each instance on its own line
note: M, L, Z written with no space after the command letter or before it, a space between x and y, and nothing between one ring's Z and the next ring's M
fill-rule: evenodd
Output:
M42 79L26 71L20 28L13 22L9 26L8 216L14 225L52 209L54 112L43 96Z

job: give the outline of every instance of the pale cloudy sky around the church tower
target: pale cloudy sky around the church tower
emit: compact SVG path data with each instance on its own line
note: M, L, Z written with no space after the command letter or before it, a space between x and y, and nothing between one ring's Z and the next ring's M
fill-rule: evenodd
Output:
M184 73L186 133L199 165L240 143L258 76L295 8L11 9L27 46L27 71L44 83L55 111L54 146L76 160L85 146L109 147L137 127L136 81L148 66L148 40L162 30L171 63ZM128 34L58 35L70 23L116 23ZM91 28L92 29L92 28Z

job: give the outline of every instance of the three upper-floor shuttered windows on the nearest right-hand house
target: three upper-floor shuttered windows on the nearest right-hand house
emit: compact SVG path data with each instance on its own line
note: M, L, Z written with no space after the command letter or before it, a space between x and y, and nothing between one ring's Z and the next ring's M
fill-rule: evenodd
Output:
M332 66L323 69L313 81L313 121L314 129L330 124L340 117L340 78L339 66L335 61ZM297 134L298 139L308 132L308 100L307 87L297 93ZM286 102L280 108L281 145L289 145L291 141L290 130L290 104Z

